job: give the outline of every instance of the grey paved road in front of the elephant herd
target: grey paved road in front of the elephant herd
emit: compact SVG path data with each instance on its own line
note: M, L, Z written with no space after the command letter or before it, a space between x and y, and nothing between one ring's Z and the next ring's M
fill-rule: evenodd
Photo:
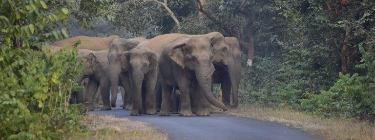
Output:
M117 106L122 105L119 96ZM130 116L130 111L121 107L109 111L95 109L92 113L115 115L119 118L150 124L167 134L170 140L323 140L309 135L301 129L285 127L280 123L212 113L209 117L168 117L159 115Z

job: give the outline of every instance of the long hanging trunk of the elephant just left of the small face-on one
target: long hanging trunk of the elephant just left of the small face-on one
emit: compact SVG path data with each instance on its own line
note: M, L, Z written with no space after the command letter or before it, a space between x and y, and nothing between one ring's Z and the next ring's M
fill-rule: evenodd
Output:
M121 66L119 64L109 65L109 78L111 85L111 106L116 107L117 92L119 87L119 77L121 72Z

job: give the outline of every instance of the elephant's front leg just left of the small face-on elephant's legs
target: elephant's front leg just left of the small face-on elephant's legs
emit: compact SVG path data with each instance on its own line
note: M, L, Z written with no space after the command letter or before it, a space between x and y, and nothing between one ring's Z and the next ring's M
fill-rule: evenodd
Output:
M133 103L132 103L132 90L130 88L130 77L129 77L129 74L126 73L126 74L122 74L121 76L121 81L122 81L122 86L123 88L125 89L125 102L124 102L124 106L123 108L125 110L132 110L133 108Z

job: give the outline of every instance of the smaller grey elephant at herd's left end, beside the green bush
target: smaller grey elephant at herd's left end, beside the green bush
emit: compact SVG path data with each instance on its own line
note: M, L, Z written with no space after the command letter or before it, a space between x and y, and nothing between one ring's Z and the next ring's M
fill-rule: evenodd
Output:
M81 53L81 51L80 51ZM86 97L84 99L84 106L92 110L95 100L95 94L100 88L103 107L102 110L111 110L109 102L109 72L108 72L108 50L104 51L90 51L89 54L80 54L79 57L86 59L83 65L83 75L81 80L88 78Z

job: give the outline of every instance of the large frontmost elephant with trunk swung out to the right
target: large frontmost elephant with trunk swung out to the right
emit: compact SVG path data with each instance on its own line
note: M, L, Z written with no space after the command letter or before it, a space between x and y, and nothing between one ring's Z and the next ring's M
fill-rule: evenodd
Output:
M170 95L173 88L180 91L180 116L192 116L190 104L190 88L193 88L200 100L196 115L209 116L210 104L222 108L227 107L212 95L212 77L214 66L212 42L214 36L181 36L169 43L160 55L159 76L162 85L162 105L159 115L169 116ZM195 93L191 93L195 94Z

